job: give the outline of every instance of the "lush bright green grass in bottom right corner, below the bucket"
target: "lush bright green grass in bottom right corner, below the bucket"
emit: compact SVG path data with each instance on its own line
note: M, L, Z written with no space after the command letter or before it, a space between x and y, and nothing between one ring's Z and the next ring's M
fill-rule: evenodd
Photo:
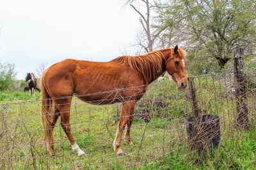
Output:
M218 150L209 153L201 164L195 164L193 155L187 150L170 151L164 159L150 162L139 169L256 169L256 128L246 132L237 132L234 138L223 141Z

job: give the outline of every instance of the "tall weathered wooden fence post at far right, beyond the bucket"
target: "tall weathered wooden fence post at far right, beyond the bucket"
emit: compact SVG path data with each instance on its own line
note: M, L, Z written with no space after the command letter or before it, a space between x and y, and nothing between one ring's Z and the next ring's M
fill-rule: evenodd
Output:
M243 48L233 50L234 59L234 78L236 89L236 125L239 128L248 129L248 106L247 98L247 81L246 75L243 73Z

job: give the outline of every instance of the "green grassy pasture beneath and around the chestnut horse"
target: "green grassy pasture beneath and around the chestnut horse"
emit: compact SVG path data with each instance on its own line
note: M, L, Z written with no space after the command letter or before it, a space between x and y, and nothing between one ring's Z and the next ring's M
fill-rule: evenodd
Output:
M74 97L72 133L88 155L77 157L72 152L58 121L54 129L56 157L51 158L45 149L41 127L40 94L29 97L24 92L1 92L0 103L8 104L0 106L0 169L256 169L254 124L248 131L234 128L234 101L216 99L221 91L211 92L211 85L207 87L200 91L202 99L198 95L202 101L200 107L220 115L221 145L200 162L198 154L188 148L184 108L188 110L185 113L190 108L184 102L186 94L177 94L173 82L153 85L140 101L138 106L154 106L152 118L147 124L135 117L131 131L135 146L125 145L122 139L126 153L123 157L115 155L112 145L120 104L95 106ZM150 104L150 99L165 99L167 107ZM138 110L141 108L137 107Z

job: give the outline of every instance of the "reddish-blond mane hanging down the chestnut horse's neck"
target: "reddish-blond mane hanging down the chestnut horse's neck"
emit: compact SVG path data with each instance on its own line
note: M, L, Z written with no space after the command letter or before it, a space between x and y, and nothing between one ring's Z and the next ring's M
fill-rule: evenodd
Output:
M153 78L156 79L159 73L163 72L163 62L165 62L160 50L137 56L122 56L116 59L120 61L120 64L127 63L133 70L140 71L147 82Z

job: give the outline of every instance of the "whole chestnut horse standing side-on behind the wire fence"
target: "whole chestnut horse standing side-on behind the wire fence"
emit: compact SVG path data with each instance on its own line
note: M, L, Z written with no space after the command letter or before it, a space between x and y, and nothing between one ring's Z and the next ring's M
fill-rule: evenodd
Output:
M79 156L85 155L70 129L70 105L72 96L76 95L92 104L122 103L113 146L116 154L123 155L121 138L125 127L125 141L127 145L133 145L130 130L136 101L164 71L172 76L179 89L186 88L185 57L184 50L175 46L134 57L118 57L109 62L66 59L49 67L42 76L41 85L42 119L49 153L55 153L53 129L58 117L61 117L61 127L72 150Z

